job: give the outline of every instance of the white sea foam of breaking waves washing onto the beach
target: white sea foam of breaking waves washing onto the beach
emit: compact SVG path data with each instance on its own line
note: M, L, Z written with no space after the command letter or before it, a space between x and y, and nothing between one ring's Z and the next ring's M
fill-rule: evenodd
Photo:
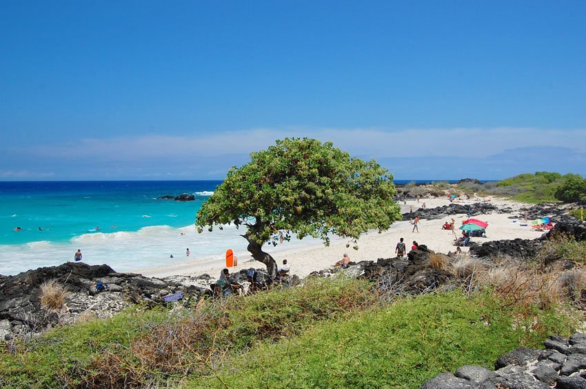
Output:
M0 274L15 275L43 266L58 266L72 261L80 249L82 261L89 265L108 264L118 272L132 272L157 266L168 266L177 261L212 261L225 258L228 248L236 257L250 259L247 241L240 235L243 229L233 225L214 228L201 234L193 224L181 228L149 226L137 232L94 232L73 237L68 242L38 241L21 245L0 245ZM299 246L318 245L317 239L290 241L276 248L266 246L267 252L276 253ZM190 257L186 249L190 249ZM173 258L170 256L173 255Z

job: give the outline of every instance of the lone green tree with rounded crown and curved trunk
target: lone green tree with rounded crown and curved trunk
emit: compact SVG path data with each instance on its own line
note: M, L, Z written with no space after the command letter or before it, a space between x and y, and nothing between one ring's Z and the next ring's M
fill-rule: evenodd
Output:
M196 226L199 232L222 224L245 226L247 250L270 277L276 277L276 262L262 250L265 243L276 246L296 234L328 246L330 235L338 235L357 249L362 232L381 232L401 219L392 199L392 174L374 160L351 158L331 142L286 138L250 156L245 166L231 168L202 204Z

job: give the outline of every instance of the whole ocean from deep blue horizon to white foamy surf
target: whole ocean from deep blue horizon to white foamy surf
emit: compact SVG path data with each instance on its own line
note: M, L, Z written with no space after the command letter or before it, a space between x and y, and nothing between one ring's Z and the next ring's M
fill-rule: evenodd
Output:
M227 248L249 257L242 231L233 226L202 234L194 227L196 212L220 183L0 181L0 274L56 266L77 249L85 263L108 263L117 271L221 259ZM157 199L183 193L195 201Z

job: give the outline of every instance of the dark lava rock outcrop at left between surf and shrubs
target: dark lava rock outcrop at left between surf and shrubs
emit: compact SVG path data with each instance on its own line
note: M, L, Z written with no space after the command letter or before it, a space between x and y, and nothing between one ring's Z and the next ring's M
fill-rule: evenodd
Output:
M60 310L41 306L41 284L54 280L65 286L68 296ZM95 282L107 284L97 290ZM132 303L162 304L161 297L184 292L183 301L199 297L199 290L185 289L179 283L147 278L132 273L118 273L108 265L89 266L68 262L61 266L38 268L0 279L0 327L3 337L42 332L59 323L71 323L78 315L91 310L95 317L108 317Z

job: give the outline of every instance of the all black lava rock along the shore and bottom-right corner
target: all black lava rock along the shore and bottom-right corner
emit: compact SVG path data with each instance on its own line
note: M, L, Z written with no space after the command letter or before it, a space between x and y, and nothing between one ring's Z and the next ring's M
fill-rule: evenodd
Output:
M485 212L510 212L510 210L499 210L490 203L474 203L469 206L449 204L449 206L445 207L430 208L427 210L420 208L418 210L418 214L422 219L445 217L445 215L453 215L454 212L471 212L472 215L480 215ZM577 241L586 240L585 223L565 215L563 208L557 206L532 206L521 208L521 212L529 218L534 217L534 215L548 215L550 219L556 221L556 226L553 230L544 233L538 239L512 239L485 242L470 249L471 257L476 257L476 259L483 261L491 261L494 257L503 255L512 258L527 259L540 252L543 245L549 239L559 234L572 236ZM408 218L409 215L404 215L404 217ZM458 279L456 279L457 277L454 276L453 272L430 266L430 258L432 256L452 257L453 259L455 254L452 252L448 252L447 254L435 253L432 250L428 250L425 245L421 245L416 250L409 252L407 259L395 257L379 258L376 261L351 262L350 268L348 269L340 270L336 268L332 270L321 270L319 272L312 272L310 277L330 277L336 272L343 271L351 277L365 277L370 279L375 282L379 289L387 288L389 285L393 285L394 287L400 286L402 292L411 295L437 290L450 283L458 283ZM558 259L552 256L545 257L544 261L547 265ZM565 263L564 266L566 268L572 268L574 263ZM265 278L265 269L256 269L256 271L260 277L264 275L263 278ZM247 269L235 272L232 275L232 279L247 286L249 283L247 283L246 273ZM296 276L292 276L291 278L292 284L299 283L299 279ZM40 286L43 281L50 279L62 283L68 289L68 296L65 298L65 303L59 310L46 310L41 306ZM265 281L270 282L267 279ZM460 282L462 281L460 280ZM108 287L103 291L97 290L97 282L107 284ZM3 341L7 342L6 345L9 346L10 341L15 337L26 338L34 336L50 328L68 325L83 319L111 317L133 304L141 304L148 307L170 304L165 302L165 297L170 295L180 296L179 301L171 304L179 303L185 306L192 306L205 295L211 294L210 284L214 282L215 280L207 274L199 275L198 277L173 276L158 279L132 273L115 272L107 265L88 266L85 263L64 263L61 266L29 270L28 272L23 272L15 276L0 276L0 341L3 339ZM578 308L586 307L586 293L580 294L580 298L574 301L574 303ZM580 339L580 341L577 341L577 339ZM572 369L567 367L570 363L574 363L575 360L579 360L576 363L578 363L578 366L582 366L581 355L585 355L586 358L585 352L582 352L582 354L578 352L578 350L586 350L586 343L583 343L580 335L575 335L573 338L567 340L555 338L550 339L550 341L558 341L558 343L566 346L566 348L561 348L561 346L556 345L557 348L552 349L562 355L567 355L566 359L561 361L562 358L558 354L554 355L552 353L551 355L554 355L554 359L557 362L550 361L549 357L544 357L545 354L542 351L536 354L537 351L534 350L530 354L536 355L537 362L530 363L530 366L527 365L529 367L526 367L523 372L518 370L517 367L505 368L500 363L498 364L498 368L495 367L497 371L490 374L483 370L484 368L465 366L458 369L453 375L452 373L444 373L438 376L439 378L436 377L436 379L428 381L424 387L483 388L487 387L482 386L484 385L483 382L490 382L491 384L501 383L502 385L506 383L506 385L509 385L511 382L517 382L514 380L518 379L518 386L509 385L507 387L538 388L540 386L526 386L525 383L529 382L527 376L529 373L532 377L536 377L536 374L545 377L545 373L534 373L534 367L542 365L550 368L550 370L546 369L549 373L551 373L551 369L558 369L556 370L558 387L586 387L560 386L569 385L567 382L581 383L582 381L580 379L586 382L586 375L583 376L580 370L586 368L586 359L584 366L578 368L576 371L569 372ZM552 346L551 342L546 343L546 347L548 345ZM574 347L578 343L579 346ZM565 354L563 350L567 350L568 353ZM572 352L569 352L570 350ZM518 354L519 351L515 350L514 353ZM577 356L572 356L574 354ZM553 366L552 363L558 364ZM513 365L517 366L514 363ZM565 372L569 373L565 374ZM483 379L479 377L483 377ZM493 380L494 382L487 380ZM548 385L547 383L543 384Z

